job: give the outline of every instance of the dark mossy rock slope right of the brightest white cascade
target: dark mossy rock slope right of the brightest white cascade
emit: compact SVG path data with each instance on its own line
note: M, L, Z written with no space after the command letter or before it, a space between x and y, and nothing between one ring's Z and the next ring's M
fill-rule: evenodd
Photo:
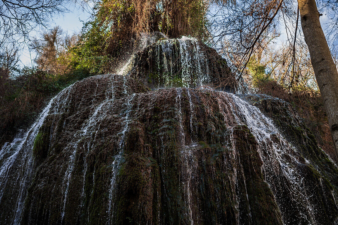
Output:
M338 185L337 167L318 147L314 135L290 104L265 95L262 97L251 96L250 101L254 102L262 112L273 119L284 137L296 148L299 154L298 157L301 160L299 160L299 164L293 166L304 178L303 184L308 201L316 205L316 210L314 211L316 222L330 224L334 220L332 215L336 215L338 211L334 203L334 195L336 195L334 193L337 193ZM309 160L309 162L305 159ZM299 199L298 202L301 201ZM293 204L296 205L297 201ZM298 210L299 207L301 205L293 208ZM283 209L286 210L286 208L288 207ZM294 210L287 212L288 216L293 219L299 215L297 214L299 212L294 212Z

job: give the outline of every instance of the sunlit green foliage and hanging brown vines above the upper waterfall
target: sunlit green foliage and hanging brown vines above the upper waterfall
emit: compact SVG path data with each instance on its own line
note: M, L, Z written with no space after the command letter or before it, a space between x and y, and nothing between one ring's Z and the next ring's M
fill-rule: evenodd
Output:
M161 31L168 37L202 37L207 25L202 0L103 0L96 4L93 20L71 49L74 70L90 74L112 72L116 59L130 52L141 32Z

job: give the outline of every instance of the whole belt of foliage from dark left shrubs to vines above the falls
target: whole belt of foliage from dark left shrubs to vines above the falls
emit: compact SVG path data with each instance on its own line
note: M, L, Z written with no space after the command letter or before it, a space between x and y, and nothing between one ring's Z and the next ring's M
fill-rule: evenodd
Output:
M32 43L39 56L38 68L24 68L14 80L6 77L0 82L0 143L25 128L44 102L63 88L112 72L121 53L130 52L141 32L201 37L206 30L206 8L202 0L102 0L79 38L73 35L64 42L59 27L45 32Z

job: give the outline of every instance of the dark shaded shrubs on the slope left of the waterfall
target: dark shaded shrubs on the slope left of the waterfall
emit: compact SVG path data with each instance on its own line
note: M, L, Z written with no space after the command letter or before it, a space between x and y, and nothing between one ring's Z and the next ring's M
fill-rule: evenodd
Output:
M0 83L0 144L11 141L19 129L26 129L47 99L88 74L87 71L74 70L53 75L25 67L15 79L7 78Z

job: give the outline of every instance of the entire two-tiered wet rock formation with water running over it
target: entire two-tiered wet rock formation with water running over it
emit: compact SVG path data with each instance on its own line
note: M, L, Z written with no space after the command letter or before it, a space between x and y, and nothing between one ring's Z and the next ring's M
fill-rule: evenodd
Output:
M166 43L179 51L167 55ZM334 224L337 167L296 111L219 91L237 89L225 61L177 61L190 51L182 45L195 49L187 54L203 48L161 40L124 75L89 77L54 97L1 149L0 221Z

